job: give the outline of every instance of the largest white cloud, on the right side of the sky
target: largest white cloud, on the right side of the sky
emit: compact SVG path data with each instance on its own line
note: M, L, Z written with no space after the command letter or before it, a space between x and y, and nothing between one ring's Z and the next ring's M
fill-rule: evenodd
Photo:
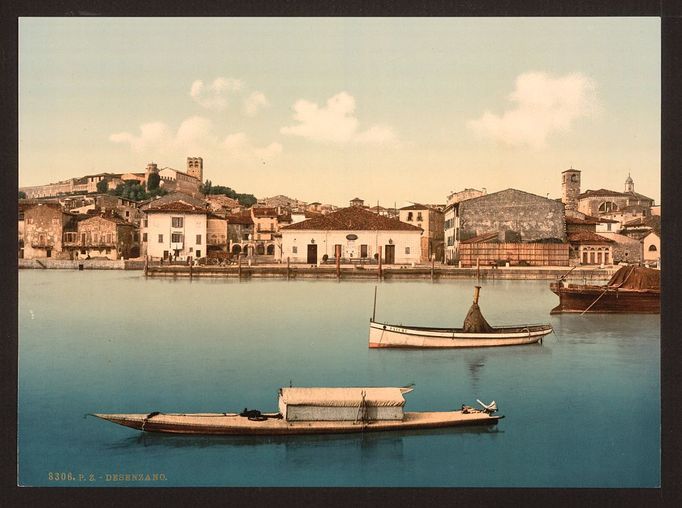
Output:
M521 74L509 100L515 103L512 109L501 115L485 111L467 126L481 138L540 149L553 132L568 131L575 120L599 110L594 82L580 73L560 77L544 72Z

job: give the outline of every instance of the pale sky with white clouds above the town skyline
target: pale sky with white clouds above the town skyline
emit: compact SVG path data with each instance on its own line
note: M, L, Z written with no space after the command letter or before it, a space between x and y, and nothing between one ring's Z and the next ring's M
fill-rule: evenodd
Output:
M19 185L184 170L259 198L660 200L658 18L21 18Z

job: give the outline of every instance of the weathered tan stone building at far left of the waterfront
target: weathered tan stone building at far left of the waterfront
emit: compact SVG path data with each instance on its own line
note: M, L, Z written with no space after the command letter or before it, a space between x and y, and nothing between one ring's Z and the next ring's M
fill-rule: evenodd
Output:
M69 259L64 251L65 232L76 232L76 217L62 211L58 203L36 203L23 210L23 251L25 259Z

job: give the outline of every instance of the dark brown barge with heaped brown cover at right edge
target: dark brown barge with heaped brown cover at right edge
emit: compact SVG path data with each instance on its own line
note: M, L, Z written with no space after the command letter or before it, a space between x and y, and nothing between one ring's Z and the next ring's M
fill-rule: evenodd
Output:
M653 268L623 266L604 286L567 284L564 275L549 288L559 297L550 314L661 312L661 272Z

